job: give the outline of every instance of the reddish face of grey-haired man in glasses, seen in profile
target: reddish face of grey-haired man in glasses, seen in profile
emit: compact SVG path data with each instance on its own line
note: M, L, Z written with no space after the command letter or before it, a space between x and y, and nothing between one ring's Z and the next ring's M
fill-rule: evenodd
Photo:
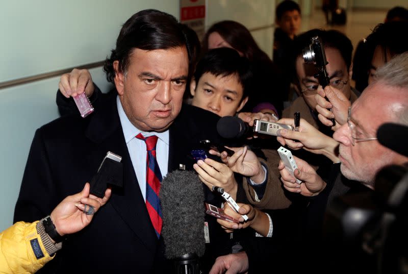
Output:
M397 114L406 103L406 95L395 92L393 87L381 83L369 85L351 107L353 137L375 138L382 123L398 120ZM375 175L382 167L403 163L399 160L403 156L382 146L377 140L354 140L353 145L351 134L348 123L345 123L333 135L340 142L340 168L346 178L373 187Z

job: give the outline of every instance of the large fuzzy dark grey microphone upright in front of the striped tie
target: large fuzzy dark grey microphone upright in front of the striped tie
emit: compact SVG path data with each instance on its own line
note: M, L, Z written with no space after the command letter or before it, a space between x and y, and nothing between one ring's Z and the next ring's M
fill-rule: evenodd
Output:
M204 191L194 171L174 170L160 189L165 257L173 260L173 273L199 274L204 255Z

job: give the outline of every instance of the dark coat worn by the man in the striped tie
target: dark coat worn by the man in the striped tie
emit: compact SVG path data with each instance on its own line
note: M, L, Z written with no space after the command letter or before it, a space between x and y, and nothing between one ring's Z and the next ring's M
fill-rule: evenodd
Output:
M122 156L124 170L123 189L113 190L110 201L87 228L68 236L57 258L42 272L72 273L79 269L88 273L167 272L163 269L166 267L163 240L157 239L150 223L123 137L116 95L112 95L104 98L86 118L61 117L35 133L14 221L41 219L64 197L81 191L108 151ZM216 131L218 119L208 111L183 105L170 126L169 172L179 168L179 164L192 165L192 159L186 155L199 140L220 142ZM212 199L219 197L207 193L207 200ZM211 221L215 223L215 218ZM215 227L221 229L219 225Z

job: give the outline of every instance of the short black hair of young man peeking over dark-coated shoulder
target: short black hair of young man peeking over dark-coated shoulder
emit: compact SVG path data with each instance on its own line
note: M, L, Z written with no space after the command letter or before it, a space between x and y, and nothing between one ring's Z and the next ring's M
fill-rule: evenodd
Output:
M243 89L242 99L248 96L251 90L253 77L251 64L233 48L210 49L197 63L194 72L195 82L198 84L202 74L207 72L222 77L236 74Z

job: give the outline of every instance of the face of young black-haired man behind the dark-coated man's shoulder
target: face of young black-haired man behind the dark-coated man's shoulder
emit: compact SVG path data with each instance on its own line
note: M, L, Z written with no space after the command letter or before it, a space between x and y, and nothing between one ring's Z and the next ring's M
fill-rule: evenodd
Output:
M219 116L234 116L245 105L243 88L237 74L214 76L210 72L202 74L198 83L193 79L190 84L193 95L192 105L209 110Z

